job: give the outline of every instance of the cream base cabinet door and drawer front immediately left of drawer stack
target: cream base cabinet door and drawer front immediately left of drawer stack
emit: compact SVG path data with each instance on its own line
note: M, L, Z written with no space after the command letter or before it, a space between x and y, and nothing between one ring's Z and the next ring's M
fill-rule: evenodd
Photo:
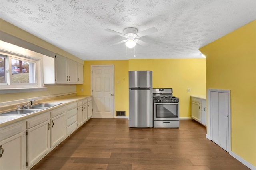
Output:
M66 136L65 107L51 111L51 148L59 144Z

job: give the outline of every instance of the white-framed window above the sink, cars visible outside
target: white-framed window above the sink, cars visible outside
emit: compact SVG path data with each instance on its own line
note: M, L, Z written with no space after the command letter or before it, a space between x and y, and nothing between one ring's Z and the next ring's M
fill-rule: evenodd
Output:
M3 49L5 46L3 47L2 44L0 47L1 90L42 87L40 70L42 54L16 45L12 46L12 51Z

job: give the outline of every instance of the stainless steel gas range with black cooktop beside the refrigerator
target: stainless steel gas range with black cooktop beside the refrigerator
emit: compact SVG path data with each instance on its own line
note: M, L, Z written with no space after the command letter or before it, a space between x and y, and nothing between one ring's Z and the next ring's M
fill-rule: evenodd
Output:
M172 88L153 89L155 128L180 127L179 101L179 98L172 95Z

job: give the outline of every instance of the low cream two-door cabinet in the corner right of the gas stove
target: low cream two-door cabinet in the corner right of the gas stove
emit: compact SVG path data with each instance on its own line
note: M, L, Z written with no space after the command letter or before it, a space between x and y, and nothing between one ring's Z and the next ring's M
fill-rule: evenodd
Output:
M191 97L191 118L206 126L206 100Z

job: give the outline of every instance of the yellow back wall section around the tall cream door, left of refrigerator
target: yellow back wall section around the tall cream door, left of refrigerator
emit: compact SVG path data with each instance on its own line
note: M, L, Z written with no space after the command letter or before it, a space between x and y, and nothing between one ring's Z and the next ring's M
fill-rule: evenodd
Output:
M116 111L129 113L128 91L128 60L108 61L84 61L84 84L76 85L78 95L91 94L91 65L114 65L115 66L115 115ZM119 83L118 83L119 81ZM83 89L83 92L81 92Z

